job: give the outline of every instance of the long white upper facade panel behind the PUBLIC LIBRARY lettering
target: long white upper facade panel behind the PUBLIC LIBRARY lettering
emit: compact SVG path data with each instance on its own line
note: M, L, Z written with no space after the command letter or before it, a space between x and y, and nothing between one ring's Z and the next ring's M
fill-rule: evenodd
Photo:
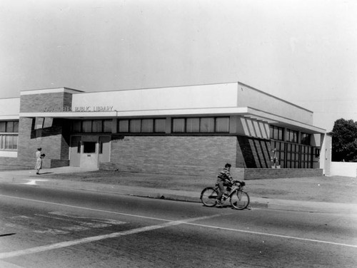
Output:
M72 98L72 110L99 106L118 111L237 107L237 83L81 93Z

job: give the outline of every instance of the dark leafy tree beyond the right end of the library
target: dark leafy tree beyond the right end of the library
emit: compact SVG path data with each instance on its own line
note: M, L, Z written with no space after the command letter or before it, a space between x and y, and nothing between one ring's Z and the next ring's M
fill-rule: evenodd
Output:
M332 136L332 160L357 160L357 122L343 118L335 121Z

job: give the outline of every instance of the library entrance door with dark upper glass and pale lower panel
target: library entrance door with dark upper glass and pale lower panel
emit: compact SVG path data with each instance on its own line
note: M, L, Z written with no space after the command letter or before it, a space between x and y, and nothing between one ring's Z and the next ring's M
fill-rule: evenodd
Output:
M98 136L82 136L81 168L98 168Z

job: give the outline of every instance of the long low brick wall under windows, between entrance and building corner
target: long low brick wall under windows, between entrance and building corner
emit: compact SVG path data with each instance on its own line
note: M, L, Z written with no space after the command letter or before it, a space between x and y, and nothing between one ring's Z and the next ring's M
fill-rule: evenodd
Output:
M236 163L234 136L123 136L111 141L111 163L217 167Z

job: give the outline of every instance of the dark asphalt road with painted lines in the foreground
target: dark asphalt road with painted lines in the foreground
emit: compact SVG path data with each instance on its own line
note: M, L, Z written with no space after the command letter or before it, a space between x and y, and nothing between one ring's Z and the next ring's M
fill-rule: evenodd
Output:
M0 184L0 267L357 267L357 215Z

